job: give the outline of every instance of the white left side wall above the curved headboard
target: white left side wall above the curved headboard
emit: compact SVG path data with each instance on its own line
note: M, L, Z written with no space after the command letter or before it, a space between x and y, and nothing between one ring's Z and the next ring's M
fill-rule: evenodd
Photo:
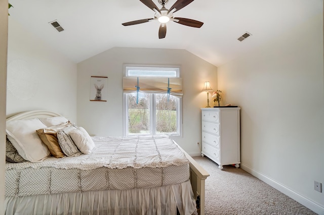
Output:
M7 115L39 109L76 121L76 64L9 17Z

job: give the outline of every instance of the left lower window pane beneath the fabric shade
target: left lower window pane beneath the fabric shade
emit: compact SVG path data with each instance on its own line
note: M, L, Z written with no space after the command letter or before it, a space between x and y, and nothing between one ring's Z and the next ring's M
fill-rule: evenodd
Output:
M147 93L139 93L138 104L136 93L128 94L128 133L150 133L150 97Z

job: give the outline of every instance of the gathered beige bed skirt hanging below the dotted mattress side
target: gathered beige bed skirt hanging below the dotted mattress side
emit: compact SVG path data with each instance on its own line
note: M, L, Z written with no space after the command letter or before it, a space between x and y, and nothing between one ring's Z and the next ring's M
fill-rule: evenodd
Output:
M160 214L195 213L190 181L132 190L8 196L6 214Z

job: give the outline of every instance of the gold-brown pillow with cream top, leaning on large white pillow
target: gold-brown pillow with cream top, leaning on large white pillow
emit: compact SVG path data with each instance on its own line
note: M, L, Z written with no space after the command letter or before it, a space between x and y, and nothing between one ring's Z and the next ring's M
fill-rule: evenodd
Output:
M38 134L39 138L43 141L45 145L49 148L51 154L56 157L64 157L65 154L63 153L59 142L57 140L57 132L63 128L66 128L68 126L71 126L72 124L70 122L63 123L61 125L57 126L50 126L47 128L42 128L36 130L36 133Z

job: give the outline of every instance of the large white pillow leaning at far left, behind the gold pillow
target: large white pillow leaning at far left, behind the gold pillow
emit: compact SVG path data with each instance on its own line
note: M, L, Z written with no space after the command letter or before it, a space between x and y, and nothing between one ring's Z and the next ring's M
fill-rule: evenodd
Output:
M39 119L16 120L6 123L6 133L18 153L30 162L41 162L51 153L35 130L46 128Z

